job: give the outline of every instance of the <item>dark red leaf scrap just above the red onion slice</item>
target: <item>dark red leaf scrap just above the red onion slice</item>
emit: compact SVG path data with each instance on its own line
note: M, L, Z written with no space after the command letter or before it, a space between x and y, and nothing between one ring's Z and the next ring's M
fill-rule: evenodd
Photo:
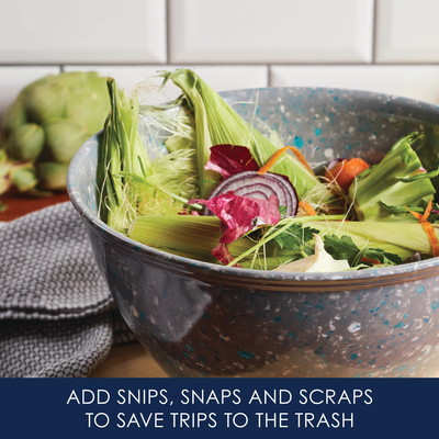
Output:
M204 169L219 172L226 179L238 172L257 171L259 166L245 146L215 145L211 147L211 157Z

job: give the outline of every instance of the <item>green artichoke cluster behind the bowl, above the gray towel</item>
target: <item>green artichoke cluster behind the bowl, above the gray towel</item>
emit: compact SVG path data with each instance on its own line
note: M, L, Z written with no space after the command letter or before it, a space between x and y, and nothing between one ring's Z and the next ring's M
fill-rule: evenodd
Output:
M65 190L69 161L109 111L106 78L97 72L48 75L25 87L1 120L0 193Z

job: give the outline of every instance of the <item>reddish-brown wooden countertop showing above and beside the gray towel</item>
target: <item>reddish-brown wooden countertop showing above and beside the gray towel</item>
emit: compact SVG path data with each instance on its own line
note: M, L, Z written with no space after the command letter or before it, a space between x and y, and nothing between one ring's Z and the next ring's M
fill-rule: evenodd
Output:
M67 193L33 199L25 194L0 195L0 222L12 221L40 209L68 201ZM166 373L138 342L112 347L108 357L91 372L90 378L165 378Z

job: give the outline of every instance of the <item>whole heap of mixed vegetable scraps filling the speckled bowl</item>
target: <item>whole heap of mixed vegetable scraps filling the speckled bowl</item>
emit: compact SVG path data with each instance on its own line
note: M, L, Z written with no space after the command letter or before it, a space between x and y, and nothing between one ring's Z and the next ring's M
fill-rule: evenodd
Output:
M427 171L413 149L423 134L399 138L378 164L340 157L319 175L306 149L263 135L256 116L245 121L192 70L159 76L182 92L161 106L108 80L97 191L99 216L115 230L172 255L277 272L439 256L439 170Z

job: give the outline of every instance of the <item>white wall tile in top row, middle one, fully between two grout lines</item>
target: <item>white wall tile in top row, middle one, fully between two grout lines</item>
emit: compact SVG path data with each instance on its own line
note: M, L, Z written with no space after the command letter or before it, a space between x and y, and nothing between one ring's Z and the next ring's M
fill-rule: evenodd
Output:
M171 63L370 63L373 0L170 0Z

